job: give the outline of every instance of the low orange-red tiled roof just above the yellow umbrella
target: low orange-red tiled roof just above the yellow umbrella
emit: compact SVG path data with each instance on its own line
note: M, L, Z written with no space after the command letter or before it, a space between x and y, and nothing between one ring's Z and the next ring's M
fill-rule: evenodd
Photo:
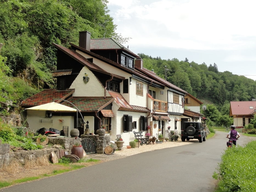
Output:
M67 96L74 93L75 89L57 90L57 89L44 89L43 91L23 100L22 107L38 106L46 103L53 102L54 99L65 99ZM56 102L56 101L55 101Z

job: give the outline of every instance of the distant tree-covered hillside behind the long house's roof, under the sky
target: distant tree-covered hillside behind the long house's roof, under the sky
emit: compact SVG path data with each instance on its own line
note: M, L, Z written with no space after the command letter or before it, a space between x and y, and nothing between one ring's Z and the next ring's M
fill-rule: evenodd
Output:
M251 101L256 98L256 81L229 71L219 72L215 63L207 66L206 63L189 62L187 58L184 61L176 58L162 60L161 57L152 58L144 53L139 55L145 68L153 69L163 79L166 72L167 81L199 100L206 99L223 105L225 101Z

